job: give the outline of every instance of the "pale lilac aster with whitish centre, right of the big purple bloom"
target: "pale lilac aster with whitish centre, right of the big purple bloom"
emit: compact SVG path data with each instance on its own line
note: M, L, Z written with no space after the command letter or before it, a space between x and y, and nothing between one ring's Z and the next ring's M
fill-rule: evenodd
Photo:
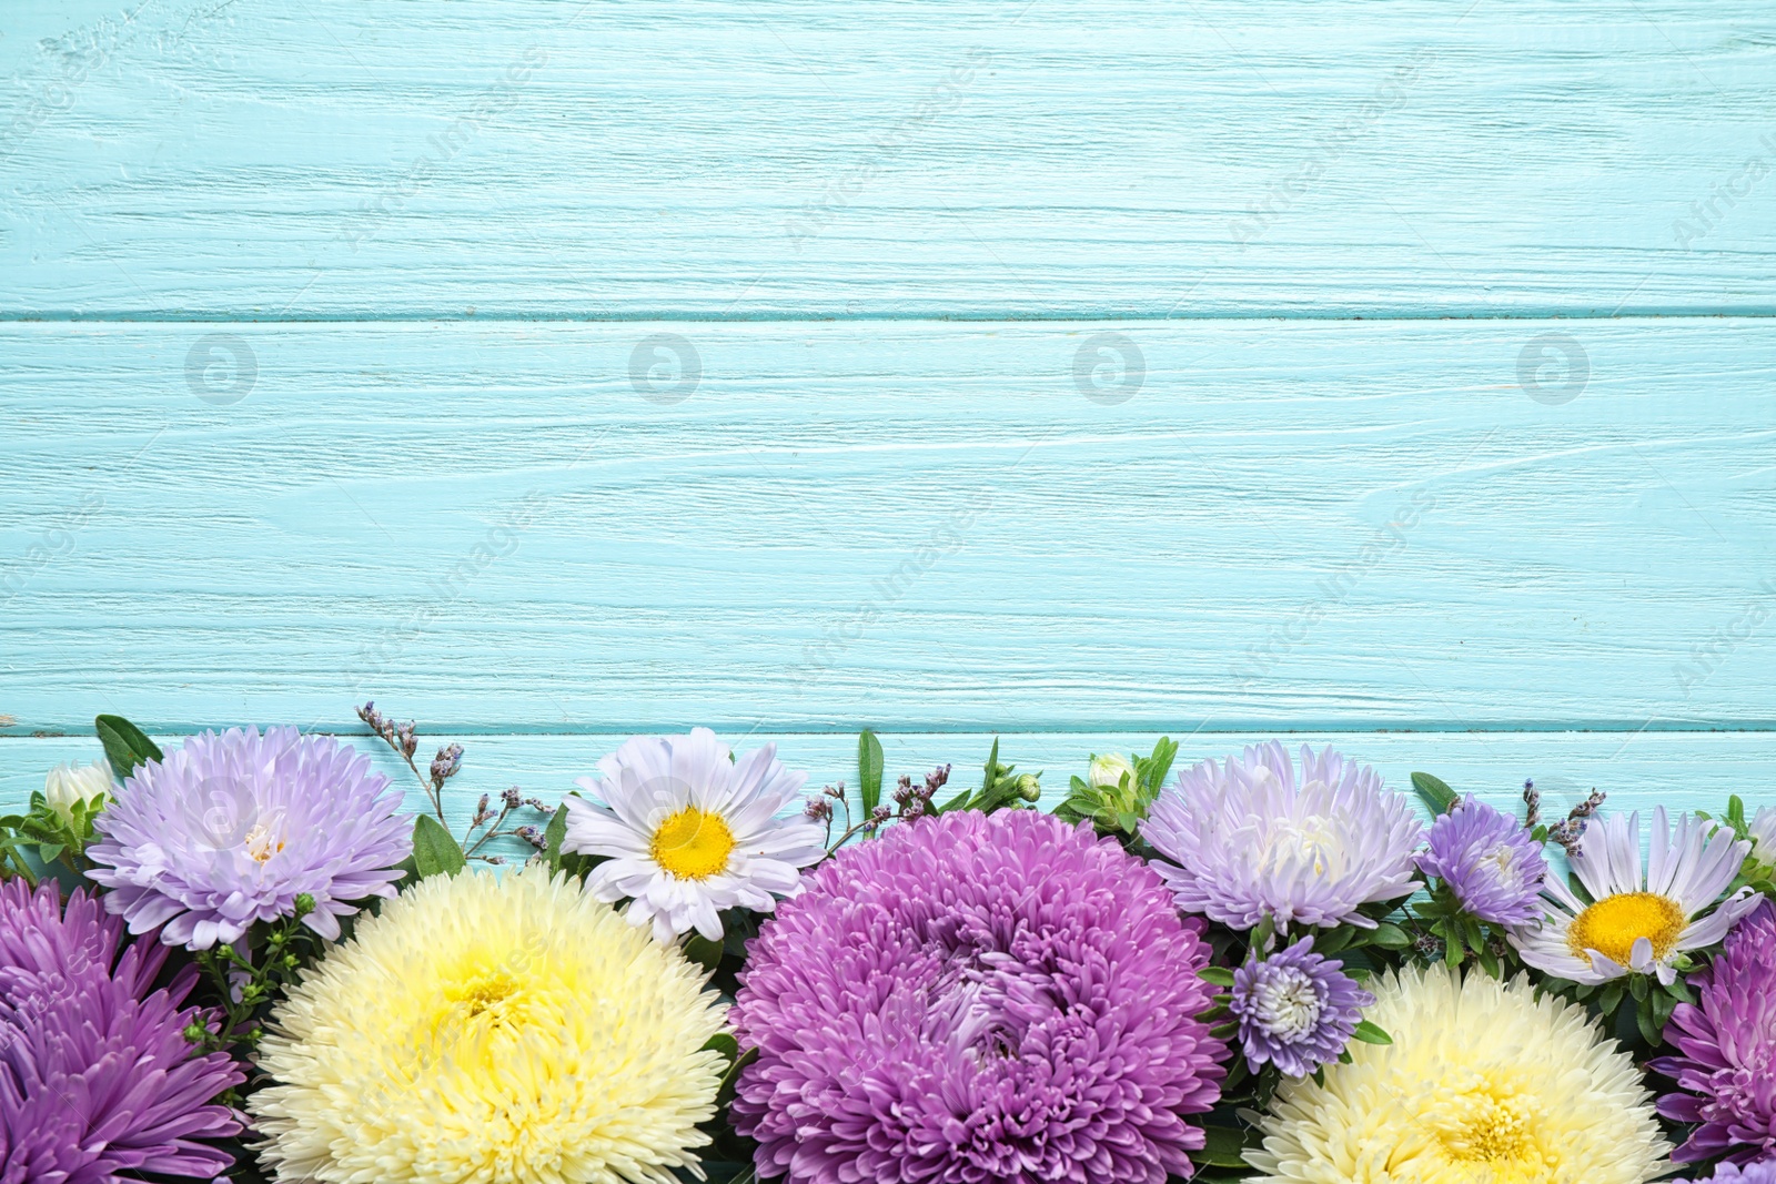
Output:
M1305 744L1300 774L1275 740L1225 765L1206 760L1160 793L1140 834L1177 866L1154 864L1185 912L1249 930L1375 921L1359 905L1412 891L1421 827L1382 777Z

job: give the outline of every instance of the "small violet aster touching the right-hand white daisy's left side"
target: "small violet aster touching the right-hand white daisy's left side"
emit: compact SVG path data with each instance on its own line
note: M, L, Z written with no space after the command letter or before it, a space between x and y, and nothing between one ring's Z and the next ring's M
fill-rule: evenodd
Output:
M1495 925L1529 925L1542 916L1542 849L1517 820L1487 802L1456 802L1431 824L1419 870L1449 886L1463 909Z

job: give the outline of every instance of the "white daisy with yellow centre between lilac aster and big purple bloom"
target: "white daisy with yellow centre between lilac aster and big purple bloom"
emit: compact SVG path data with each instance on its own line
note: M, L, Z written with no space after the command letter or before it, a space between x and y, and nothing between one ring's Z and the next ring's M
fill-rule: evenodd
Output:
M776 746L735 758L709 728L687 737L632 737L575 785L604 804L567 799L563 850L609 856L586 877L599 900L629 898L634 925L673 941L693 928L721 939L723 909L771 912L826 856L826 829L797 811L808 774Z

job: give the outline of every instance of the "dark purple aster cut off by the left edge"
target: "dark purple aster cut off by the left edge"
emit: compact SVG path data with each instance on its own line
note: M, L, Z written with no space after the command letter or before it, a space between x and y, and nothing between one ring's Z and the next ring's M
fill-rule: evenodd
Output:
M186 969L155 991L167 951L131 943L85 889L62 909L52 880L0 884L0 1180L112 1184L210 1180L234 1161L208 1140L240 1122L211 1106L245 1081L226 1053L199 1053L179 1008Z

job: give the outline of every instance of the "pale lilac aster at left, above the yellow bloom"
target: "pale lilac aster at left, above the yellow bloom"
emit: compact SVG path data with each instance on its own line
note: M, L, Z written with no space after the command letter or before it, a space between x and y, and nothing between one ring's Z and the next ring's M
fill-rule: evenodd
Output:
M368 896L392 896L412 850L401 795L369 758L295 728L204 731L137 767L94 822L87 872L131 934L169 946L233 943L295 912L329 941Z

